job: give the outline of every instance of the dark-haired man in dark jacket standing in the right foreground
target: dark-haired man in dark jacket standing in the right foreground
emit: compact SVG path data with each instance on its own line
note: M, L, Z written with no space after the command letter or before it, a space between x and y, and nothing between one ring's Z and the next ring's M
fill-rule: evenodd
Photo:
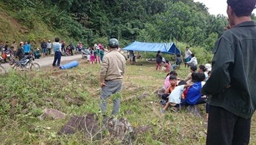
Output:
M256 0L228 0L229 30L214 48L211 76L201 90L210 104L206 144L248 144L256 109Z

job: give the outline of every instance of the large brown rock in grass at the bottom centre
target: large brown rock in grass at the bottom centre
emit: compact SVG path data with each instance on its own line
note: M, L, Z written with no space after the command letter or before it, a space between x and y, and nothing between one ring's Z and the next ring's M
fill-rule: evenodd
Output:
M134 129L126 118L113 118L87 114L86 116L73 116L69 122L58 132L62 134L75 134L83 132L87 137L94 140L103 139L106 136L122 141L122 144L131 144L138 133L148 130L142 127Z

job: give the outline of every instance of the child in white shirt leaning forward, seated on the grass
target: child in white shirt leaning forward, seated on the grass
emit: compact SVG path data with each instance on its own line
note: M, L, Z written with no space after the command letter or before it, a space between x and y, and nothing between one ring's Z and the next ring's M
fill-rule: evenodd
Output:
M162 113L165 113L166 109L169 106L172 106L172 110L177 112L179 110L179 104L181 103L181 96L183 95L183 91L190 87L192 84L187 84L184 80L180 81L178 86L170 93L168 97L168 102L165 107L161 110Z

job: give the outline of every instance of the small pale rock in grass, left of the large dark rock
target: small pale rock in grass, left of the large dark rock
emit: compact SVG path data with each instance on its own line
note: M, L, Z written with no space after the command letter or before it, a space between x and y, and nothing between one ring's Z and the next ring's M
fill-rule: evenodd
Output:
M42 114L38 118L40 120L44 118L65 119L66 114L55 109L44 109L42 110Z

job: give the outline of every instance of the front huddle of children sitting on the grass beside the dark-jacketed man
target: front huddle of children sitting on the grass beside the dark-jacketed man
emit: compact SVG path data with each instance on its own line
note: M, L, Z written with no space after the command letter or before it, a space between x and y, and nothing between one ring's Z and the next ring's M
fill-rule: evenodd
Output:
M170 106L171 110L178 112L182 106L206 103L206 96L202 96L200 90L210 77L210 71L210 64L200 65L198 69L197 66L191 66L190 73L184 80L178 78L176 71L170 71L164 81L165 92L161 96L164 108L161 112L165 113ZM206 104L207 116L208 111L209 106Z

